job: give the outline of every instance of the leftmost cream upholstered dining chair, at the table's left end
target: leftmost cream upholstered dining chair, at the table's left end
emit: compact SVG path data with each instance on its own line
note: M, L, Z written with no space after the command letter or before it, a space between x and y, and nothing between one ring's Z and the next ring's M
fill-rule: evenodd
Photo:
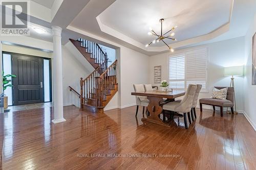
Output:
M134 84L133 87L134 87L134 91L135 91L135 92L145 91L145 88L144 88L144 85L143 85L143 84ZM136 98L136 105L137 105L137 108L136 108L136 116L137 116L137 114L138 114L139 106L143 106L143 114L144 114L145 107L148 106L148 104L150 103L150 101L147 99L146 96L137 96L137 95L136 95L135 98Z

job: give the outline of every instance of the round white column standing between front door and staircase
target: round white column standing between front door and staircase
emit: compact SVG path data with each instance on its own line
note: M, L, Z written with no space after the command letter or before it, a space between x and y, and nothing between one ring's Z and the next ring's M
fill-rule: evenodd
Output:
M63 118L61 28L52 26L53 32L53 112L52 123L65 122Z

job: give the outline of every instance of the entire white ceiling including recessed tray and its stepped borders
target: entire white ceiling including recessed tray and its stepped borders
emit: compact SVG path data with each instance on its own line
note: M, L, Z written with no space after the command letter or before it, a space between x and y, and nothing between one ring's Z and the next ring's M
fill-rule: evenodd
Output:
M50 0L37 2L49 3ZM152 56L168 51L162 42L159 46L145 47L153 40L147 35L148 28L158 32L162 17L165 30L178 25L178 41L171 44L177 50L244 36L256 12L255 5L256 0L76 0L75 4L63 0L51 21L42 17L45 11L40 8L31 13L30 21L45 27L47 34L32 30L30 36L52 41L50 28L54 25L62 28L62 44L69 42L69 38L82 37L112 48L122 45ZM52 9L50 12L54 13Z

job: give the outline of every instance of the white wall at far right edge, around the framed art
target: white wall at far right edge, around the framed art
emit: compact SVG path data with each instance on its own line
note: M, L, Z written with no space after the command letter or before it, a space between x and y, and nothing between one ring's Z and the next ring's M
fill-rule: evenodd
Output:
M256 32L256 14L245 36L245 78L244 78L244 111L245 116L256 130L256 85L252 85L252 36Z

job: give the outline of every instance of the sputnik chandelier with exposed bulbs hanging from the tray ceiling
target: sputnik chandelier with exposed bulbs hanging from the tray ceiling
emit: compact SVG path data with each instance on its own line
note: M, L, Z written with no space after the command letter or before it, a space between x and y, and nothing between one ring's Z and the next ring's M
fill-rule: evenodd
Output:
M170 51L174 52L174 49L172 47L170 47L166 42L164 42L164 39L167 38L167 39L172 39L173 41L176 41L176 39L174 38L175 33L173 31L177 28L177 26L173 27L172 29L170 29L169 31L167 31L166 33L163 34L163 21L164 21L164 19L159 20L159 22L161 22L161 35L156 34L155 31L150 28L151 32L148 32L147 34L148 35L155 35L155 36L157 36L157 38L155 40L151 41L150 43L146 44L146 47L148 45L154 44L156 42L163 41L163 43L165 43L165 45L168 46ZM172 32L172 33L170 33L170 32ZM170 33L170 34L166 35L168 33Z

